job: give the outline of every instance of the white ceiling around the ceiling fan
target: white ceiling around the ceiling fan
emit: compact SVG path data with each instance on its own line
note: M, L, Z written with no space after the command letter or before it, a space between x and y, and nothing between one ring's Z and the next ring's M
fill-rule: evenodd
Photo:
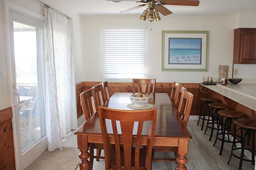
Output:
M57 0L59 1L59 0ZM121 11L133 8L140 4L137 2L122 1L114 4L106 0L60 0L70 6L79 14L142 14L147 7L143 6L126 13ZM200 0L199 6L173 6L166 5L172 15L234 15L244 12L256 12L256 0Z

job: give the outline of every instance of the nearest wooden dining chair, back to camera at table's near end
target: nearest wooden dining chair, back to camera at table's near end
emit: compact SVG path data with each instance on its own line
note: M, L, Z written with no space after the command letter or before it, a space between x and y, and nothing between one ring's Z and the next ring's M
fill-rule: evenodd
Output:
M150 170L152 168L156 114L156 108L118 110L99 107L106 170L131 170L133 168ZM144 121L151 121L151 123ZM143 134L148 134L146 148L140 147ZM114 145L111 146L110 143Z

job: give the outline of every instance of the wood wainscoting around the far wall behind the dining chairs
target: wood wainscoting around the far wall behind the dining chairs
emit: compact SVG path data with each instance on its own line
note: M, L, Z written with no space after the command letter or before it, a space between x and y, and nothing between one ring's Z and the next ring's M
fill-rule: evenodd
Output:
M82 107L80 105L80 93L90 89L92 86L100 84L101 82L80 82L76 84L76 102L77 102L77 117L83 115ZM171 95L172 84L170 83L161 83L156 82L156 93L168 93ZM200 83L180 83L182 86L186 87L189 92L194 94L193 104L190 115L199 115L199 109L201 103L198 100L198 96L200 94ZM115 92L132 92L132 82L130 83L121 83L121 82L108 82L110 96L112 96Z

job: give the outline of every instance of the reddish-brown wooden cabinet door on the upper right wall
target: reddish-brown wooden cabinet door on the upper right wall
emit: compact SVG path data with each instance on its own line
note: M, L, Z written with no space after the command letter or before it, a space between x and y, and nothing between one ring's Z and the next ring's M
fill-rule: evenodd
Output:
M256 63L256 29L241 31L240 63Z

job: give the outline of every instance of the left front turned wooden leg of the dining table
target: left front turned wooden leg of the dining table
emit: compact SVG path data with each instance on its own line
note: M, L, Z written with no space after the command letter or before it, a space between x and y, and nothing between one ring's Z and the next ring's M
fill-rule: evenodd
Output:
M79 158L81 159L79 163L80 170L90 170L90 162L88 158L90 154L88 152L89 144L86 135L77 135L78 149L80 150Z

